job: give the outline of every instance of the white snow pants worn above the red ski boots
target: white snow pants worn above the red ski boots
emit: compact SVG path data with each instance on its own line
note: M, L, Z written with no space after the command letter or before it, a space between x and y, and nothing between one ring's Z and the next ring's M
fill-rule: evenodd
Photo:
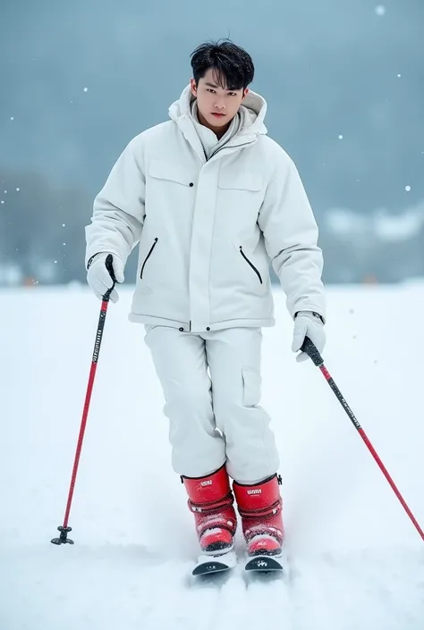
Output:
M239 483L258 483L279 466L260 399L260 328L180 332L146 325L146 344L165 395L172 465L209 475L226 464Z

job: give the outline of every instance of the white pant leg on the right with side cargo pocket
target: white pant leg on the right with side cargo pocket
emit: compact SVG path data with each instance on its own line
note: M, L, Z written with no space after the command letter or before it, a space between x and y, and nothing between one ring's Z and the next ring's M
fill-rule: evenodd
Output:
M229 328L208 333L216 426L224 433L226 468L239 483L257 483L279 466L270 417L259 407L262 331Z

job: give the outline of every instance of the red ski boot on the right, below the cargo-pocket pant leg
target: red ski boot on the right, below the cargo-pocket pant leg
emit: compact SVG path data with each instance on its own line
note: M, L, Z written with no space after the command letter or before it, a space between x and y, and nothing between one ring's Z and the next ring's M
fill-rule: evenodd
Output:
M283 501L280 496L281 477L273 475L257 485L233 483L242 530L249 556L282 555L284 541Z

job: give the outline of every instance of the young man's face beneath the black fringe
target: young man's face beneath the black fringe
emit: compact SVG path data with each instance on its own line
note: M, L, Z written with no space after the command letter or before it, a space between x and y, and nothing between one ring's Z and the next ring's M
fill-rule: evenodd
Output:
M209 69L196 86L191 79L191 93L198 100L199 122L212 130L228 127L249 89L223 89L216 83L216 73Z

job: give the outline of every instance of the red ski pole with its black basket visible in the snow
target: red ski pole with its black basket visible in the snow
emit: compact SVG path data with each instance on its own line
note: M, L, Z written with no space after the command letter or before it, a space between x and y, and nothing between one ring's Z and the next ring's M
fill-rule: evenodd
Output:
M106 269L110 273L110 276L113 280L113 284L110 289L106 290L106 293L102 298L102 305L100 307L100 315L98 316L98 332L96 333L93 357L91 359L91 367L89 370L89 383L87 385L87 392L85 396L84 407L82 410L80 434L78 436L77 449L75 452L75 459L74 459L73 468L72 468L71 483L70 483L69 492L68 492L68 500L67 500L66 509L64 512L64 525L59 525L57 527L57 529L60 532L60 536L59 538L53 538L51 541L55 545L65 544L66 542L68 542L69 544L73 544L73 541L70 538L68 538L68 533L72 532L72 527L68 526L69 514L71 512L73 491L75 488L75 481L77 478L78 466L80 464L82 441L84 439L85 427L87 424L87 417L89 416L89 401L91 399L91 392L93 391L94 378L96 376L96 369L98 366L98 355L100 352L100 345L102 342L103 330L105 328L107 306L109 304L110 294L114 290L114 285L116 282L116 278L114 277L114 266L112 263L113 263L113 256L109 254L106 257L105 264L106 264Z

